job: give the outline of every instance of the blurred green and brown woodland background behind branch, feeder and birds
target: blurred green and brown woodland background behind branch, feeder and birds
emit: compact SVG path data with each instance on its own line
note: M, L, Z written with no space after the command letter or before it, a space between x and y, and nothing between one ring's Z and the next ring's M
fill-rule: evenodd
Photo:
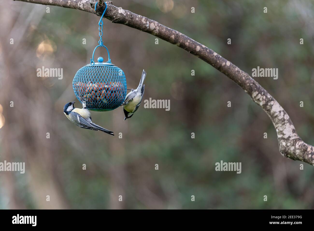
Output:
M249 74L257 66L279 68L277 80L255 79L288 112L300 137L314 144L313 1L113 4L180 31ZM145 109L142 103L126 121L122 108L92 112L93 121L115 137L81 129L63 115L63 106L76 99L72 80L97 45L99 17L56 6L46 13L46 6L11 0L0 6L5 119L0 162L26 162L25 174L0 172L0 208L314 208L313 166L300 170L302 162L283 158L266 113L207 63L104 19L104 44L112 63L126 74L128 88L137 87L145 69L144 99L170 99L170 111ZM95 56L106 60L104 50L97 49ZM63 79L37 77L42 66L63 68ZM242 173L216 172L220 160L241 162Z

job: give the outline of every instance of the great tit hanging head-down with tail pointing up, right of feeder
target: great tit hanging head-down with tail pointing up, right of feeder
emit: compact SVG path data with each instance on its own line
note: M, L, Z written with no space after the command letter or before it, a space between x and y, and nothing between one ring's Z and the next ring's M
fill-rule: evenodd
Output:
M124 120L131 118L132 115L136 110L138 110L139 105L142 102L145 84L143 85L144 79L146 77L146 72L143 70L141 81L138 84L137 89L131 89L129 94L125 97L123 105L123 112L124 112Z

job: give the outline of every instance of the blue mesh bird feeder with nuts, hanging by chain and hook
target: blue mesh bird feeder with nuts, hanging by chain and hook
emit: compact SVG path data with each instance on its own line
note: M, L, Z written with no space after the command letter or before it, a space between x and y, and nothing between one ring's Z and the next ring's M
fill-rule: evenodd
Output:
M105 2L106 4L106 2ZM96 10L97 2L95 4ZM76 98L86 108L93 111L110 111L119 107L127 95L127 80L119 67L111 63L109 50L102 41L102 14L99 25L98 46L95 47L90 63L80 68L73 78L73 90ZM108 61L102 57L94 62L97 47L105 47L108 52Z

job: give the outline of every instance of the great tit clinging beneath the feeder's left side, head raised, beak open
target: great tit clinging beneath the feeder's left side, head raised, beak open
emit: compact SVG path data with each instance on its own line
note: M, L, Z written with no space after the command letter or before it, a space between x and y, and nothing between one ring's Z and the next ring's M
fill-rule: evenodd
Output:
M71 121L73 124L81 128L90 129L94 131L99 130L114 136L113 132L103 127L100 127L92 122L92 117L90 116L90 112L88 109L85 109L84 107L83 109L75 108L74 103L75 101L67 103L66 105L64 105L63 108L64 115L68 117L69 121Z

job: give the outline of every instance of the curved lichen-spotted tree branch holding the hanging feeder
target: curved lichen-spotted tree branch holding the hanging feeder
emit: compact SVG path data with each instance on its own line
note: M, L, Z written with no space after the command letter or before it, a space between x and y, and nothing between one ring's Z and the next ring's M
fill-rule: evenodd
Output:
M101 16L104 6L94 10L97 0L18 0L23 2L54 5L66 8L80 9L89 13ZM99 0L98 0L99 1ZM100 1L102 2L102 1ZM148 19L128 10L112 5L111 1L106 2L108 8L104 17L113 23L125 24L155 35L167 42L181 47L187 52L207 62L228 78L238 84L269 116L275 126L279 151L284 157L300 160L314 165L314 147L306 144L295 132L295 127L287 112L279 103L249 74L232 64L213 50L189 38L188 36L168 28L152 19Z

